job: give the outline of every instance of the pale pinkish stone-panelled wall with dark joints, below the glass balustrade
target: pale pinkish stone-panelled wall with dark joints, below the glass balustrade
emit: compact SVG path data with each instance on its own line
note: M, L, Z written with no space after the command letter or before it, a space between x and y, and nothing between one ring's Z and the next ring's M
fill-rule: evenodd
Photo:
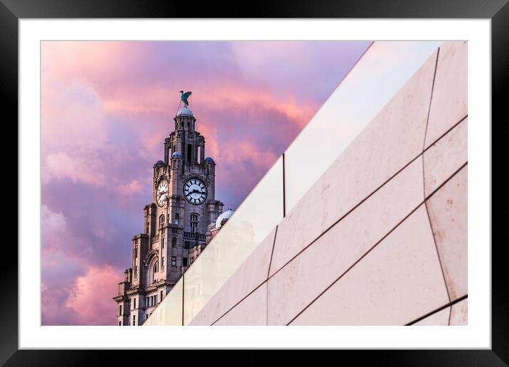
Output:
M466 324L466 55L436 50L190 324Z

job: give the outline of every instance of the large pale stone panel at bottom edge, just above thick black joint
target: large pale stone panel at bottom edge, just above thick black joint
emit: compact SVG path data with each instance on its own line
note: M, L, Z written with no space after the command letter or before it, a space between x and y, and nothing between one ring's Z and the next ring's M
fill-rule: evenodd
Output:
M423 205L291 324L404 325L447 302Z

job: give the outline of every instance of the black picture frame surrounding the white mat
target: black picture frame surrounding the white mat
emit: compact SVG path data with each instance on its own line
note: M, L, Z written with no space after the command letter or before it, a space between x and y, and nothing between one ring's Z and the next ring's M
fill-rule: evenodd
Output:
M164 0L0 0L0 65L4 128L18 121L18 20L20 18L490 18L492 51L492 119L502 121L504 90L507 92L509 60L509 5L507 0L407 0L407 1L271 1L264 6L241 6L240 2L208 1L186 6L183 2ZM192 10L191 10L192 9ZM8 123L9 122L9 123ZM486 122L491 123L491 122ZM17 126L17 124L16 124ZM493 126L493 125L492 125ZM9 135L6 135L9 134ZM17 129L6 133L16 144ZM2 144L6 146L6 142ZM9 149L4 157L11 156ZM17 150L17 149L16 149ZM494 154L492 154L495 157ZM14 161L10 159L10 161ZM16 171L18 169L16 160ZM493 164L492 164L493 165ZM11 171L14 172L14 171ZM11 174L10 177L14 176ZM491 178L490 178L491 179ZM18 184L18 183L17 183ZM16 191L18 191L16 185ZM492 189L493 190L493 189ZM21 193L18 191L18 199ZM13 198L14 200L14 198ZM17 203L6 208L17 208ZM10 210L12 211L12 210ZM17 233L17 232L16 232ZM504 274L505 241L489 244L492 249L492 349L427 351L352 351L356 363L372 360L391 366L507 366L509 363L508 277ZM104 362L105 351L18 350L18 250L6 239L2 246L4 264L0 267L2 289L0 311L0 363L6 366L90 366ZM39 312L39 310L34 310ZM110 363L149 361L145 353L115 351L122 359ZM156 358L168 358L168 352ZM186 358L171 351L171 358ZM249 363L267 363L263 358L235 356ZM233 353L233 354L232 354ZM151 357L154 356L151 354ZM165 357L166 356L166 357ZM299 358L299 354L295 356ZM326 356L324 356L326 358ZM203 353L193 354L193 363L210 363ZM197 359L196 359L197 358ZM344 358L344 357L343 357ZM224 362L225 360L223 360ZM238 361L238 360L237 360ZM325 360L324 360L325 361ZM316 361L315 361L316 362ZM372 362L372 363L373 363Z

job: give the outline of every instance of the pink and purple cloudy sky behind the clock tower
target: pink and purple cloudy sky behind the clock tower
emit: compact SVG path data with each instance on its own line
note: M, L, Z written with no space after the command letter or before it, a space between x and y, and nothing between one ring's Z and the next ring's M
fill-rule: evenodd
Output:
M43 42L42 324L114 325L152 166L191 90L237 208L370 42Z

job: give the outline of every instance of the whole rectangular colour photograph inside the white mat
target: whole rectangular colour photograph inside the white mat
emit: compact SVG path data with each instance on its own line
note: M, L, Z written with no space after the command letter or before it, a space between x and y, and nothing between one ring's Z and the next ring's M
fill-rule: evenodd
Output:
M41 325L468 324L467 53L43 41Z

